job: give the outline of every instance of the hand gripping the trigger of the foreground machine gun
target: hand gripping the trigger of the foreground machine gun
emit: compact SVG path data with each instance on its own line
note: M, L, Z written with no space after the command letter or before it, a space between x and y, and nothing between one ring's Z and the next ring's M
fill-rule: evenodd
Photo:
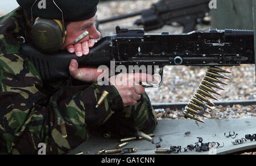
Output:
M135 105L141 99L141 94L145 93L145 88L139 82L158 84L154 77L146 73L118 74L110 77L109 82L118 90L124 107Z

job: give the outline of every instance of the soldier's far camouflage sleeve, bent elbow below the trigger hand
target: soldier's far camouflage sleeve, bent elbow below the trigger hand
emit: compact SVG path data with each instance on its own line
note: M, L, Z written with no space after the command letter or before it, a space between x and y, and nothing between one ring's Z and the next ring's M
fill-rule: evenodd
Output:
M150 99L144 93L136 105L115 112L101 127L101 132L102 134L108 133L113 137L125 138L135 136L136 131L151 134L157 124L157 117Z

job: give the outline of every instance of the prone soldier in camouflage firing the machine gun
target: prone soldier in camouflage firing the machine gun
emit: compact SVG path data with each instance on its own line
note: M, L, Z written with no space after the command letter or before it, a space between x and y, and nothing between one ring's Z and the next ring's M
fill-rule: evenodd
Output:
M100 86L97 69L78 68L76 60L69 65L71 79L44 82L20 51L25 42L48 53L58 48L77 56L88 55L94 39L100 38L94 26L97 0L17 2L18 9L0 18L0 152L38 154L38 145L44 143L46 154L64 154L85 142L88 130L99 128L115 136L154 130L156 116L141 85L118 86L113 79L111 85ZM48 39L44 31L33 34L38 24L49 24L48 30L55 30L52 22L63 36L57 38L53 32L53 39ZM84 31L89 35L74 44ZM53 43L43 45L47 40ZM127 80L141 77L141 81L150 77L139 73L125 76ZM105 91L108 96L96 109Z

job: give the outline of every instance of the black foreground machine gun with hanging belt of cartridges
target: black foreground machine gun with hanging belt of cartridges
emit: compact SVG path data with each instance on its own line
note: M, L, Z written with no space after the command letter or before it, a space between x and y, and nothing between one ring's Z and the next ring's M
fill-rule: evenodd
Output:
M79 67L123 65L155 66L154 70L163 82L163 67L166 65L207 66L208 70L200 87L185 107L185 117L204 122L207 109L214 104L209 98L216 99L210 93L220 94L213 88L226 84L219 78L229 79L219 73L230 73L222 66L255 64L254 31L217 30L193 31L187 34L145 34L143 29L123 29L116 27L117 34L104 36L90 49L88 56L77 57L65 51L55 55L46 55L28 44L22 45L24 55L34 63L44 81L56 81L69 78L69 63L76 59Z

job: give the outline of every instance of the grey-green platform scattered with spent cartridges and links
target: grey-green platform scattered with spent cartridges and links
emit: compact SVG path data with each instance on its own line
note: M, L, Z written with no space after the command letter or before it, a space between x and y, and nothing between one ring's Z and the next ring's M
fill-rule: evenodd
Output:
M240 145L233 145L235 139L226 138L224 132L236 132L237 138L244 138L246 134L256 134L256 118L242 119L206 119L205 123L200 123L198 127L195 121L190 119L178 120L159 120L154 134L161 136L163 142L160 143L161 148L170 148L170 146L187 147L188 144L198 142L197 137L202 137L203 142L219 142L224 143L224 147L210 149L208 152L182 152L183 155L207 155L207 154L230 154L243 150L256 148L256 141L247 140ZM190 131L191 134L185 135ZM236 138L236 139L237 139ZM83 152L84 154L94 155L98 150L103 148L114 149L119 144L118 139L106 139L97 132L89 136L89 139L82 143L69 154ZM129 142L126 147L136 147L137 152L134 155L155 155L155 145L147 140L134 140Z

